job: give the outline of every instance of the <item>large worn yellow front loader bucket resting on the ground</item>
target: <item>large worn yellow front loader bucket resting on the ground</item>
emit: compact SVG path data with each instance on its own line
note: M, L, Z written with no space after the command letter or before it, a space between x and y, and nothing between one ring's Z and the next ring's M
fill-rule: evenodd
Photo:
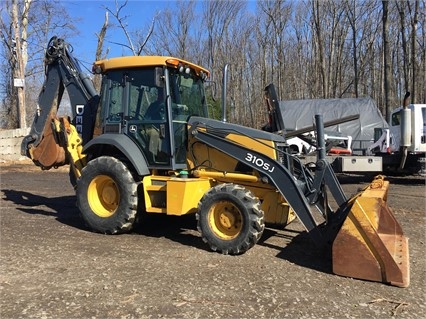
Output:
M408 238L386 204L382 176L349 200L350 212L332 246L337 275L408 287Z

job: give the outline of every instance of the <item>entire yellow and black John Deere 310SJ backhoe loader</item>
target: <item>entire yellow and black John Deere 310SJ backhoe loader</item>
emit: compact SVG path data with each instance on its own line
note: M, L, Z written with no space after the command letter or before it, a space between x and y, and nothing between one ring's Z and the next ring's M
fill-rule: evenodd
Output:
M70 48L57 37L48 44L22 154L42 169L70 164L77 206L93 231L127 232L139 214L194 214L211 250L238 255L265 225L298 218L315 244L332 250L335 274L409 285L408 239L386 204L389 183L378 177L347 198L324 160L321 116L313 173L291 155L284 133L209 118L205 68L160 56L96 61L98 94ZM72 118L57 116L65 88ZM285 132L273 85L265 102L270 127Z

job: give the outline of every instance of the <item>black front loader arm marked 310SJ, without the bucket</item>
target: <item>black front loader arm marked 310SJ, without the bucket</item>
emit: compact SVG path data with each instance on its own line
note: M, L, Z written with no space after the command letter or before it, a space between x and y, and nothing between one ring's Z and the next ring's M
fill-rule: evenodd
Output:
M311 172L300 163L297 157L291 156L284 149L280 149L278 145L275 150L279 154L278 157L284 158L281 161L224 138L223 136L226 133L223 130L209 127L209 125L214 126L214 123L213 120L194 117L189 121L192 135L197 140L220 149L221 152L246 164L259 172L264 183L273 184L311 235L314 244L322 247L333 241L349 213L349 210L346 209L348 199L333 169L325 160L324 154L318 155L316 174L312 176ZM317 124L319 126L318 135L321 135L322 122ZM231 128L230 125L229 128ZM244 134L243 132L240 133ZM324 138L319 138L318 142L318 149L325 149ZM279 143L280 141L276 144ZM301 171L297 176L293 173L295 166L298 171ZM325 198L327 198L325 186L339 206L336 211L333 211L328 202L325 202ZM323 220L319 220L318 217Z

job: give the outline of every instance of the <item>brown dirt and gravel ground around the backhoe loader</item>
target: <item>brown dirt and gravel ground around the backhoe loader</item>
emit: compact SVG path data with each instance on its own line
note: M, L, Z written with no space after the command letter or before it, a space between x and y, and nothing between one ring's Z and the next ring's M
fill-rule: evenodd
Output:
M411 284L331 274L299 222L241 256L210 252L194 216L90 232L64 169L0 164L1 318L424 318L425 179L388 177L410 238ZM340 176L350 195L370 177Z

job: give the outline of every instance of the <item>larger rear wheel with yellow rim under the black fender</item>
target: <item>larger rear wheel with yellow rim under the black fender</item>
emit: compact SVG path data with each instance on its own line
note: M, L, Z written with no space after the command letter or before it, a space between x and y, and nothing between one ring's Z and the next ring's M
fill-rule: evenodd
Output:
M77 181L77 206L95 232L128 232L138 206L138 183L121 161L102 156L91 160Z

